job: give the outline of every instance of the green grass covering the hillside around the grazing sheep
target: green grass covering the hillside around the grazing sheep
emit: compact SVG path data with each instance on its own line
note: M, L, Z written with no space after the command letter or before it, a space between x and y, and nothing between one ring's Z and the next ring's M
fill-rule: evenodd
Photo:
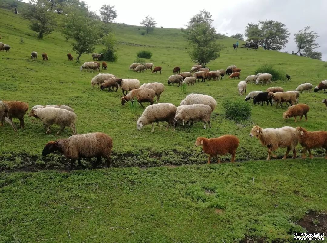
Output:
M8 6L6 3L0 7ZM307 122L283 120L285 108L276 110L251 103L251 121L236 124L225 118L222 102L227 98L244 100L245 96L238 95L239 80L229 80L226 76L225 80L197 82L187 87L186 93L177 85L167 85L174 67L179 66L181 72L185 72L193 66L187 54L189 47L179 29L156 28L153 33L142 36L142 27L113 24L118 60L108 63L106 73L137 78L141 84L163 83L165 91L160 102L179 105L193 92L208 94L217 100L211 129L204 130L198 122L190 129L179 126L175 132L171 128L166 132L163 127L161 131L155 127L151 133L150 125L138 131L136 121L143 109L137 106L132 112L128 104L122 106L120 90L106 92L92 88L91 79L97 73L80 72L81 64L67 60L69 52L77 56L72 52L70 40L66 42L58 32L39 40L21 15L0 9L0 16L5 20L1 26L1 41L11 46L10 54L0 52L0 100L25 101L30 108L47 104L73 107L77 113L78 134L99 131L113 138L115 167L203 164L207 155L194 147L196 138L224 134L240 138L236 161L249 161L146 170L134 167L69 173L2 172L0 242L65 242L69 240L68 230L74 242L232 242L243 239L244 235L285 241L290 240L292 232L303 231L293 222L307 210L327 210L326 160L254 161L265 159L267 149L249 137L254 124L264 128L301 125L308 130L325 129L327 112L321 103L326 98L323 92L301 94L300 103L311 107ZM24 42L20 43L22 38ZM270 65L291 75L290 82L272 84L284 90L294 90L304 82L316 86L326 79L326 62L262 49L239 48L236 52L232 49L235 41L228 37L219 40L226 48L218 59L207 65L211 70L226 69L234 64L242 69L241 80L245 80L259 67ZM98 46L95 52L101 49L103 46ZM136 53L145 49L152 52L147 61L162 66L161 75L129 71ZM32 51L39 54L35 61L30 59ZM48 54L48 62L42 61L43 52ZM92 58L82 55L80 60L83 63ZM247 93L267 88L249 84ZM14 119L14 123L18 127L18 120ZM56 136L58 130L59 127L53 125L52 134L46 135L42 122L27 115L25 129L18 129L17 133L5 123L0 127L0 170L65 170L68 163L60 154L46 159L41 155L48 141L72 134L65 128ZM300 154L300 145L297 150ZM277 151L279 158L284 152L285 149ZM313 154L319 156L324 151L316 149ZM230 156L223 156L222 160L230 160ZM87 161L83 163L89 165ZM69 209L79 206L92 209ZM216 209L222 213L216 214ZM118 228L110 228L116 226Z

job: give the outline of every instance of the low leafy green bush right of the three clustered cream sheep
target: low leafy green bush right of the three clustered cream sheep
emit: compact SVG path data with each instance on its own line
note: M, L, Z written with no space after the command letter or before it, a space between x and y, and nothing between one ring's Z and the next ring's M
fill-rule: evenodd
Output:
M225 100L222 104L227 119L242 122L251 117L251 105L244 100Z

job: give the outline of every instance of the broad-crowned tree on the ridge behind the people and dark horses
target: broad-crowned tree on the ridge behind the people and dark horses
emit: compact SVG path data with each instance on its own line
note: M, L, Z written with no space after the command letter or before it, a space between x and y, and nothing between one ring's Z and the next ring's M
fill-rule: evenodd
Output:
M258 44L266 44L267 50L280 50L288 42L290 33L285 28L285 24L273 21L259 21L258 24L248 23L245 29L248 40L253 40Z

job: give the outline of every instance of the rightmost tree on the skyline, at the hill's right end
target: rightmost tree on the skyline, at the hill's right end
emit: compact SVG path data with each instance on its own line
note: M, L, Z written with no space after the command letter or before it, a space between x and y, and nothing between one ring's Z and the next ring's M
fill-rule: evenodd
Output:
M311 53L313 49L317 48L319 45L316 43L316 39L319 37L318 33L310 31L310 26L306 26L301 29L298 33L294 34L294 40L298 47L298 51L295 55L298 55L300 51L304 51L304 56Z

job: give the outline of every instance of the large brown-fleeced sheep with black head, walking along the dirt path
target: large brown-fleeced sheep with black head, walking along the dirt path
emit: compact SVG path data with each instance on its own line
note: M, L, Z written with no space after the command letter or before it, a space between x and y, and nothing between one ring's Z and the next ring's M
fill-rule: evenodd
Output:
M73 135L69 138L58 139L57 141L48 142L42 151L42 155L46 156L55 151L59 151L70 159L70 170L73 170L75 161L85 169L81 163L81 158L94 158L97 160L93 164L93 169L101 161L101 156L107 161L107 167L110 167L110 155L112 150L112 138L104 133L87 133L81 135Z

